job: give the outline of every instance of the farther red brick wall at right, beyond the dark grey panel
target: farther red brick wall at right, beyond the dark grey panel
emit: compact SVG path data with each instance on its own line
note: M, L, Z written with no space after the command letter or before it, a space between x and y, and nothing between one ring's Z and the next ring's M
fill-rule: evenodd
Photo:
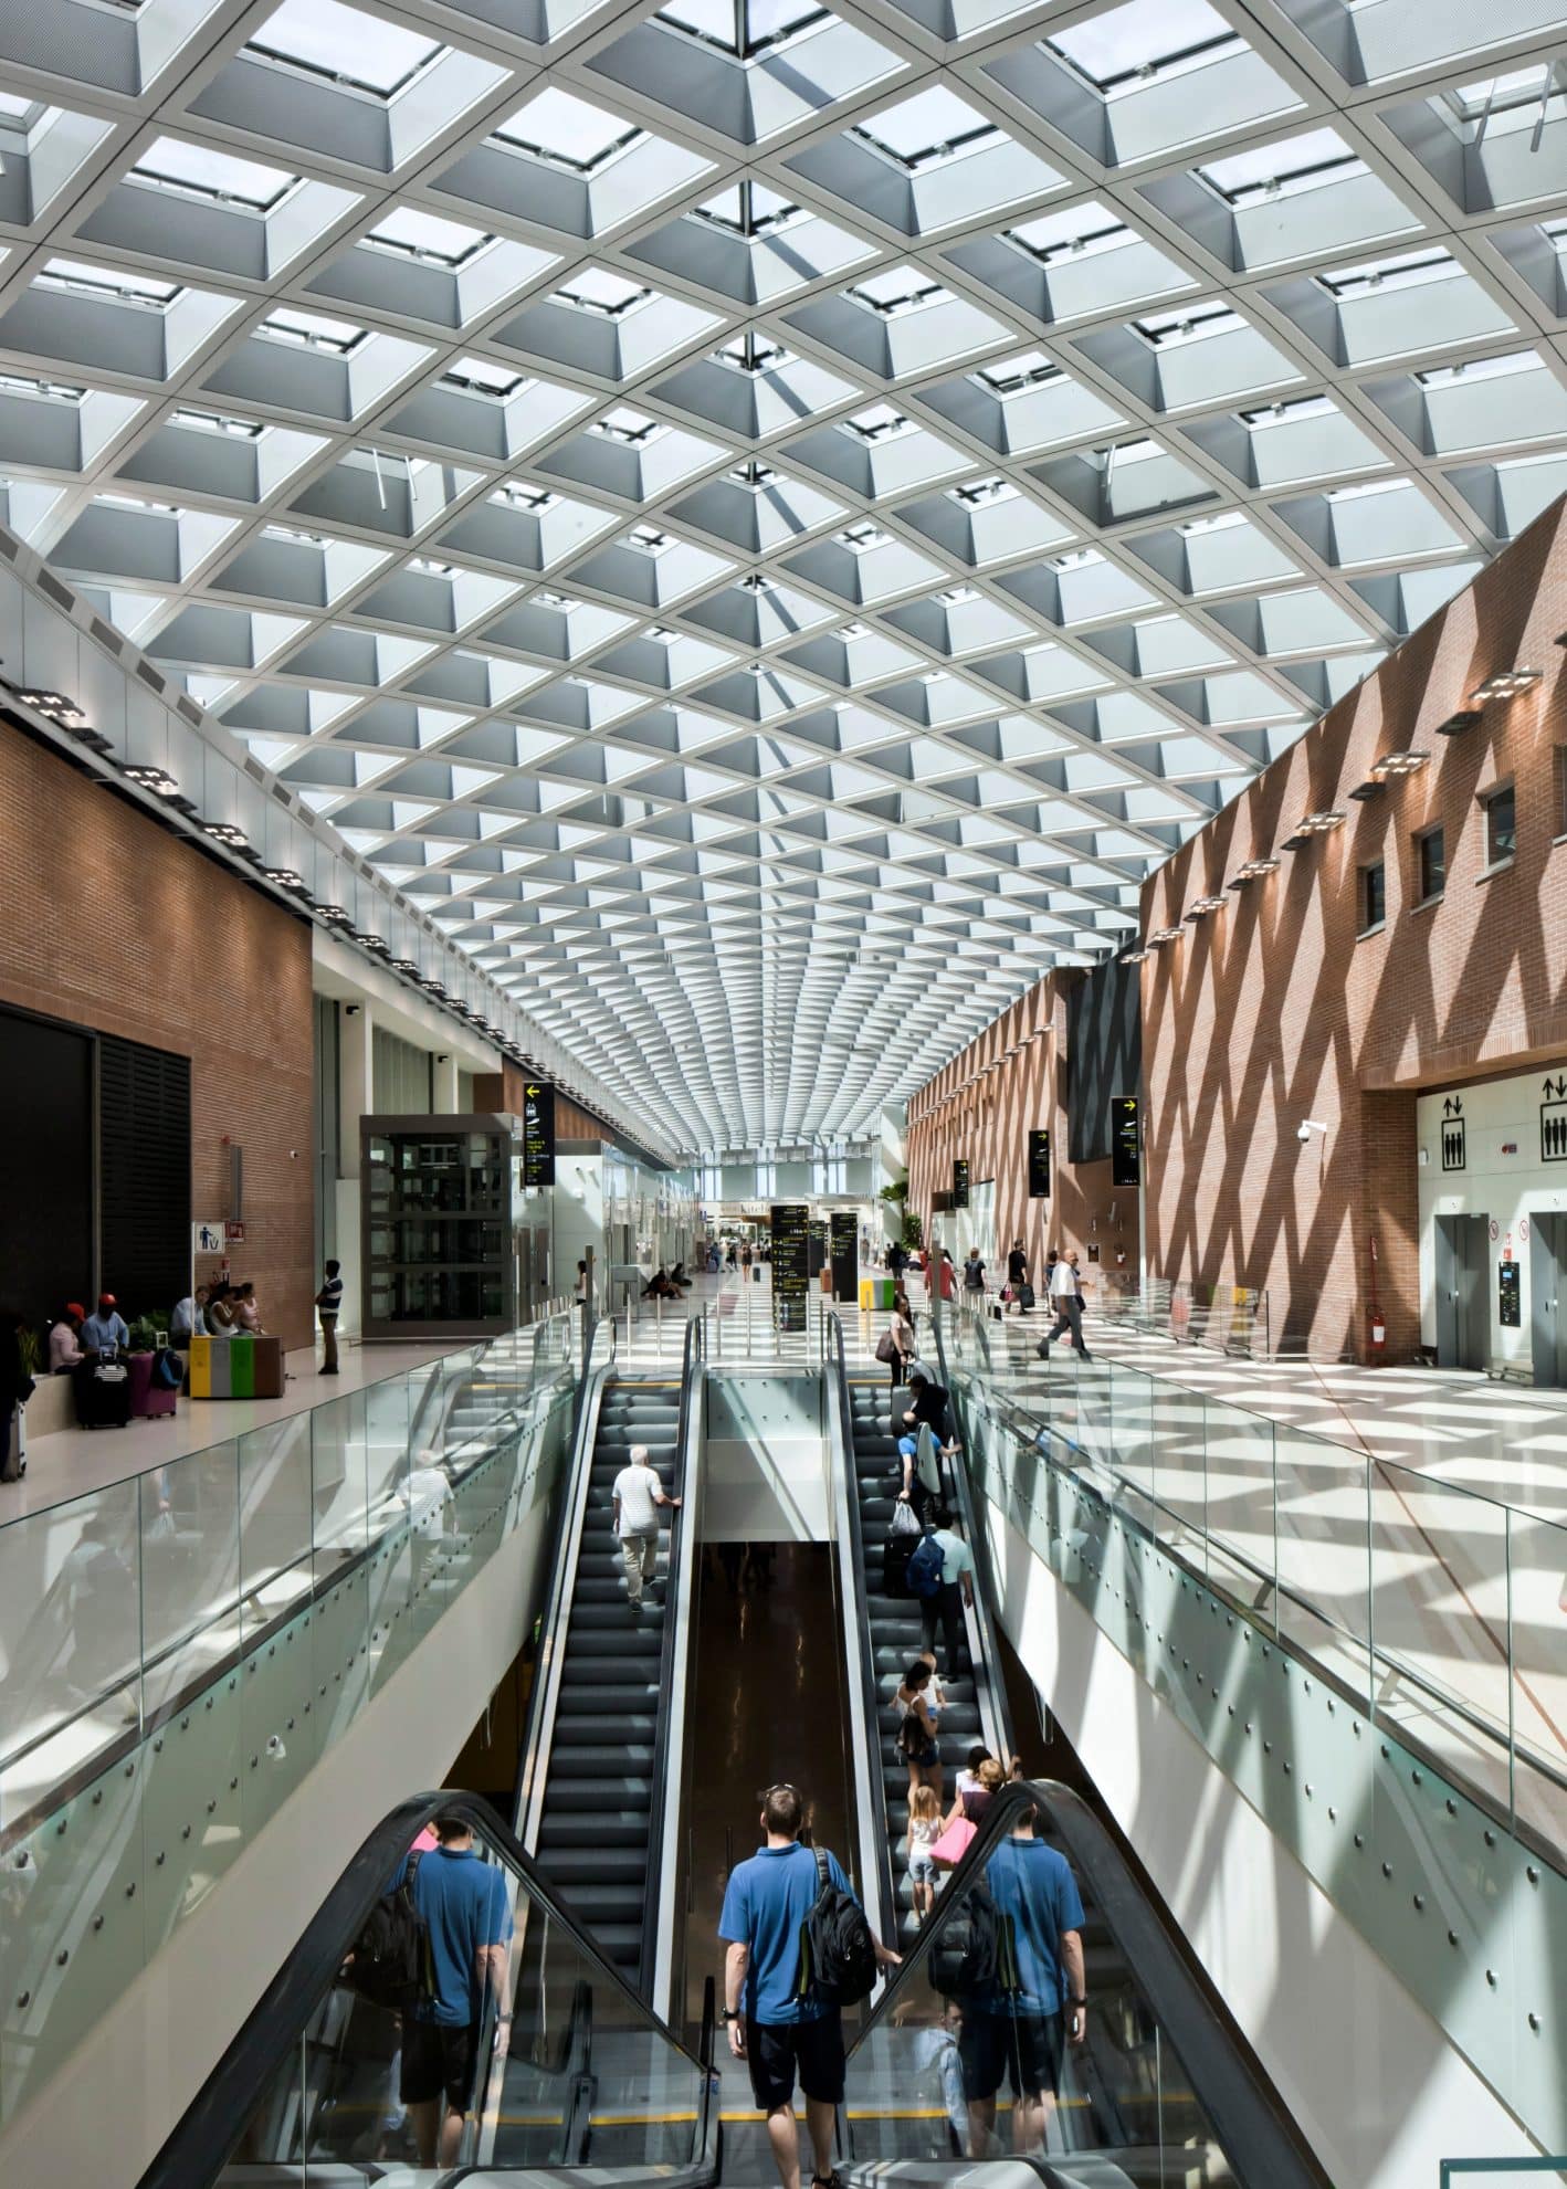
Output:
M952 1160L965 1156L970 1182L996 1180L996 1259L1022 1237L1035 1281L1046 1248L1077 1248L1088 1263L1101 1250L1101 1270L1114 1274L1125 1250L1125 1274L1138 1265L1136 1193L1110 1184L1110 1162L1066 1162L1066 998L1079 972L1048 974L1020 996L978 1040L943 1066L908 1103L908 1206L919 1213L926 1239L956 1254L954 1217L932 1217L932 1195L952 1184ZM1035 1038L1037 1035L1037 1038ZM1022 1046L1018 1046L1022 1044ZM1007 1051L1015 1055L1007 1057ZM1051 1134L1051 1197L1029 1200L1029 1132ZM1114 1208L1114 1217L1112 1217Z

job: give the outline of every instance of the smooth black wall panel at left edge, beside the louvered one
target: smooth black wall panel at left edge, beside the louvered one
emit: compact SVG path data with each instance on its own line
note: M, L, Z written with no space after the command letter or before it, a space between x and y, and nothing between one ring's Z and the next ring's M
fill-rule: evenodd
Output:
M0 1307L37 1327L92 1305L92 1038L0 1011Z

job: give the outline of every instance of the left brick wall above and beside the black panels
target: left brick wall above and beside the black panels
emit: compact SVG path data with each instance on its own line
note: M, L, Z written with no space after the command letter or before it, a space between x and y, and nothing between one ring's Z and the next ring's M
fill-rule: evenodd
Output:
M193 1213L230 1215L228 1136L245 1151L234 1281L285 1344L309 1344L309 928L7 727L0 873L0 1000L190 1057Z

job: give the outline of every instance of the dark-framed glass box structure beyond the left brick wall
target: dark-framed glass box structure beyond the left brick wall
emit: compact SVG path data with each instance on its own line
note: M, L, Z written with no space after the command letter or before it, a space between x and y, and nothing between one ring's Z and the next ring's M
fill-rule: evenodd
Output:
M363 1335L495 1337L516 1296L510 1116L365 1116Z

